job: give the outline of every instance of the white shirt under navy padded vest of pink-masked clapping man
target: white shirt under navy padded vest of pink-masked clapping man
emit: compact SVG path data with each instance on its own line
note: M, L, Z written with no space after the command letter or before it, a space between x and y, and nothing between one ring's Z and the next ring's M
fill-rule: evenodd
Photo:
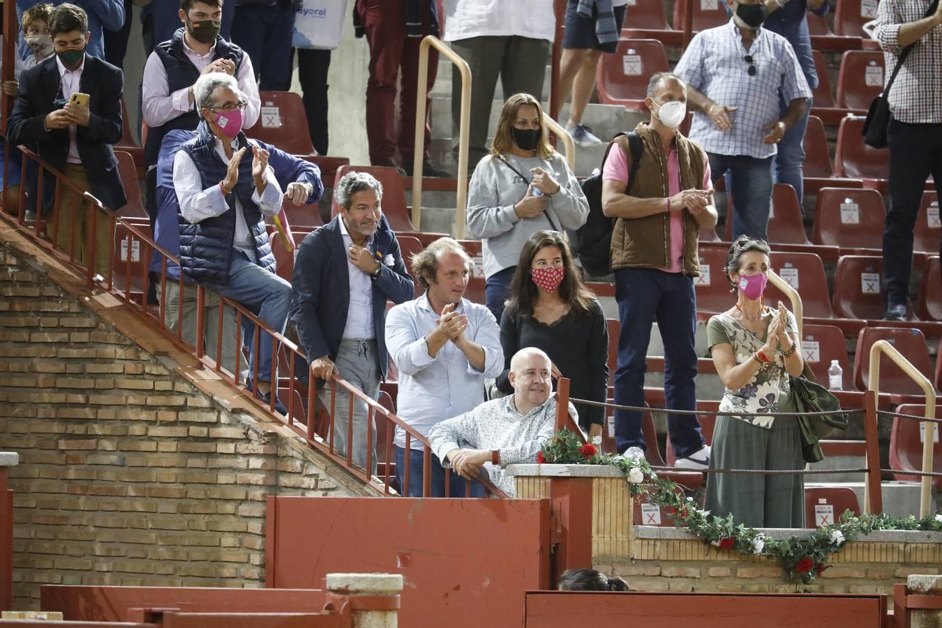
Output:
M249 140L250 144L254 140ZM233 139L232 147L238 150L238 143ZM228 164L229 158L222 148L222 142L216 140L216 154L223 163ZM246 151L242 159L252 159L252 152ZM258 205L258 209L263 216L275 216L282 209L282 188L278 185L275 178L275 171L268 166L265 172L268 185L261 195L258 188L252 190L252 201ZM186 151L177 151L173 157L173 189L176 191L177 201L180 202L180 214L187 222L196 224L205 218L222 216L229 211L229 203L219 188L219 182L203 189L203 178L200 176L200 170L193 163L193 159ZM233 192L235 194L235 191ZM242 202L236 195L233 199L235 205L235 238L233 246L244 252L252 262L255 259L255 243L252 238L252 232L245 221L245 213L242 211Z

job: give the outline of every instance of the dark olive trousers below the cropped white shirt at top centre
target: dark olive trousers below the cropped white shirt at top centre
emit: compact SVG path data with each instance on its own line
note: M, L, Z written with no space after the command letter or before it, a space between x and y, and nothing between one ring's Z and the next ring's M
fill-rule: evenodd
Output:
M497 76L504 100L518 92L543 97L550 44L518 36L472 37L451 42L451 49L467 61L471 69L471 125L468 136L468 169L474 170L488 153L487 137ZM462 81L458 72L451 78L451 149L458 151L462 109Z

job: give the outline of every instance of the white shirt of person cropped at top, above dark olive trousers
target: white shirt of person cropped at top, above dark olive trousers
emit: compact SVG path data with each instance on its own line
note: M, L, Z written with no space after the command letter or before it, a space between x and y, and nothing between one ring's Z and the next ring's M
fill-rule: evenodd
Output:
M511 36L552 41L553 3L547 0L445 0L445 40Z

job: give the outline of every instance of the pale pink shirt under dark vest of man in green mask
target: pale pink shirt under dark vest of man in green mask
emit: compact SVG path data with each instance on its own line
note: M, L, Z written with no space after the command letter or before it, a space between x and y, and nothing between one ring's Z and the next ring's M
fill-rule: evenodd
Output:
M203 72L206 66L213 62L216 44L213 44L208 53L200 55L187 46L187 40L184 39L183 50L196 69ZM242 125L243 128L248 129L258 121L258 112L262 106L262 101L258 97L258 85L255 83L255 72L252 70L252 59L249 55L242 56L242 64L235 72L235 80L238 81L238 89L249 104L245 109L245 122ZM189 102L189 86L171 93L167 85L167 68L164 67L163 61L156 52L147 57L147 63L144 65L141 104L144 121L148 126L165 124L191 111L195 106Z

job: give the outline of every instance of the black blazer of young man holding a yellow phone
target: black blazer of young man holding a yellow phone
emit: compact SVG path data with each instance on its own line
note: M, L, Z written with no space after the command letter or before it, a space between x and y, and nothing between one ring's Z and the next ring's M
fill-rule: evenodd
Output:
M56 56L20 74L20 95L7 121L8 141L34 148L53 168L65 169L69 156L69 129L45 130L46 114L56 105L60 79ZM95 56L85 56L80 91L89 94L89 126L75 127L78 155L89 178L92 194L105 206L117 210L127 204L118 174L118 160L111 149L122 138L122 71ZM43 177L42 198L46 211L52 207L56 179Z

